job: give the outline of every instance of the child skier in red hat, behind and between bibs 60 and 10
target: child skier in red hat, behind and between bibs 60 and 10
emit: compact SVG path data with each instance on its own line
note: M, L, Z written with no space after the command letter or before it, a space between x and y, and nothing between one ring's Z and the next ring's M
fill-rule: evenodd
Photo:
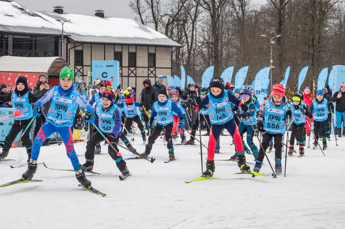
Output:
M142 141L146 142L146 134L144 125L141 123L141 119L139 117L137 107L139 107L139 110L142 110L142 107L140 106L140 103L135 102L133 98L130 95L127 95L126 102L118 103L118 107L124 110L126 121L125 121L125 128L127 130L130 130L130 127L132 126L132 122L135 122L138 124L138 128L141 133ZM127 135L126 129L124 130L124 134Z

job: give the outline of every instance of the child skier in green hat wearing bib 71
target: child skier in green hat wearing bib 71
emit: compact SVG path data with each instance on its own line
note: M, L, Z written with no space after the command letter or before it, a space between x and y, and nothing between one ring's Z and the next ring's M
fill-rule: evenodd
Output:
M93 114L94 111L88 101L86 101L77 90L74 90L74 74L71 67L63 67L59 79L59 86L50 89L42 98L37 100L33 108L33 115L38 117L41 115L40 107L42 104L50 99L52 101L46 122L34 139L28 170L22 177L25 179L31 179L33 177L37 169L37 158L42 143L46 140L46 136L58 132L63 143L65 143L67 156L71 160L77 180L82 186L88 187L91 185L91 182L85 177L85 173L81 169L77 154L74 150L71 126L78 105L85 107L88 112L92 113L93 119L95 118Z

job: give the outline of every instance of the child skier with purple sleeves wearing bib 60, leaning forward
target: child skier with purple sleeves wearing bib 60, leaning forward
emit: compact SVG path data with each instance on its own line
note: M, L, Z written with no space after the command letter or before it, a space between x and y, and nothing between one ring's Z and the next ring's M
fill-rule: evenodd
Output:
M130 97L130 95L128 95ZM122 175L129 174L128 168L126 166L126 162L122 159L122 156L118 156L119 150L115 143L119 142L119 138L121 135L121 116L118 107L116 106L115 102L115 94L110 90L106 90L102 94L102 102L98 103L95 106L95 113L96 118L89 118L85 119L88 123L96 123L99 129L102 131L104 135L106 135L107 139L109 140L110 144L108 145L108 153L111 158L116 162L116 166L122 173ZM132 97L130 97L132 99ZM91 114L92 116L92 114ZM95 134L92 135L91 139L87 142L86 145L86 152L85 152L85 159L86 162L82 165L83 171L92 171L93 168L93 159L95 155L95 146L103 141L104 138L102 137L101 133L96 131ZM115 143L114 143L115 142Z

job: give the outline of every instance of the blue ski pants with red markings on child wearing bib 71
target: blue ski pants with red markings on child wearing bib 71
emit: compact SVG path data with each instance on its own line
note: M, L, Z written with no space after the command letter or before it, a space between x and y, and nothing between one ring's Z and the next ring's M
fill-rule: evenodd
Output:
M68 158L71 160L72 166L75 171L81 168L76 151L74 150L73 137L71 127L55 127L49 122L45 122L41 129L38 131L35 140L33 141L31 159L37 160L42 143L46 140L46 136L50 136L52 133L58 132L62 138L66 147Z

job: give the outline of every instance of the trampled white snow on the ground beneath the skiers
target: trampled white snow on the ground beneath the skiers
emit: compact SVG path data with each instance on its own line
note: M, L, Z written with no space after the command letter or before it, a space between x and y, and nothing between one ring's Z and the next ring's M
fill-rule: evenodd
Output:
M86 139L86 132L82 135ZM206 144L208 137L203 136L202 141ZM230 136L221 136L223 154L216 154L215 159L229 159L234 154L231 141ZM109 155L95 156L93 171L105 175L87 177L106 197L78 187L73 172L38 165L33 179L43 182L1 188L1 228L344 228L345 172L338 162L343 160L345 138L335 146L332 136L324 151L326 157L320 149L313 150L312 142L311 148L305 147L305 157L294 154L287 158L286 177L273 179L266 159L260 172L269 176L255 178L234 175L240 172L236 162L216 161L214 176L220 179L187 184L185 181L201 175L200 146L175 146L178 160L164 163L168 150L158 138L150 154L156 161L127 161L132 176L125 181L119 180L120 172ZM139 135L133 145L144 152ZM77 154L83 155L85 146L86 142L75 144ZM133 156L120 152L123 157ZM65 154L63 144L45 146L38 162L71 168ZM252 155L246 157L253 162ZM268 157L274 163L274 153ZM0 184L18 179L26 171L26 167L10 168L26 162L24 148L11 149L7 158L17 161L0 163ZM203 155L204 170L205 158ZM79 160L85 162L82 156Z

